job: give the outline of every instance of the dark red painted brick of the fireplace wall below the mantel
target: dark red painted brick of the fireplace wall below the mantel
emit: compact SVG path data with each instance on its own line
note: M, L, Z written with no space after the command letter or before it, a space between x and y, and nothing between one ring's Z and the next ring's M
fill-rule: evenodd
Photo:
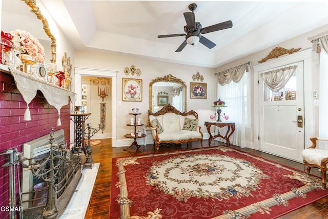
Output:
M69 143L70 105L60 110L61 126L57 126L56 108L47 103L42 92L37 92L29 108L32 120L24 121L26 103L16 88L13 77L0 72L0 153L8 148L17 148L18 152L22 152L23 143L49 134L51 127L54 131L64 129L65 140ZM2 167L7 161L7 155L0 155L0 207L8 206L8 167ZM16 201L18 203L18 195ZM0 211L0 218L8 218L8 212Z

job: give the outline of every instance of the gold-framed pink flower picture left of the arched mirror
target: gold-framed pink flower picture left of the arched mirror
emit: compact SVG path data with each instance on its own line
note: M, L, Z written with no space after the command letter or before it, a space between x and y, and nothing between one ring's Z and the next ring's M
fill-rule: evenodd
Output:
M141 101L142 79L122 78L122 101Z

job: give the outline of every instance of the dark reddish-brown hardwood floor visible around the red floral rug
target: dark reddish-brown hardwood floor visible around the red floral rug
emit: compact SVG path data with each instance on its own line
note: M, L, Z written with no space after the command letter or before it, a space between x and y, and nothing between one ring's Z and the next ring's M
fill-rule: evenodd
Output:
M213 142L214 143L214 142ZM212 145L213 145L212 143ZM189 144L189 148L199 148L200 142L192 142ZM208 141L205 140L203 142L203 147L208 147ZM231 146L233 148L237 148L239 150L263 157L265 159L278 162L280 164L293 167L298 170L305 171L305 167L301 163L297 163L294 161L286 160L284 158L274 156L268 153L263 153L260 151L252 150L249 148L239 148L236 146ZM127 148L127 147L124 147ZM124 151L122 147L112 148L111 140L103 140L103 143L100 145L92 147L92 157L94 163L100 163L100 167L98 170L98 175L96 178L95 185L93 187L93 192L90 198L88 210L86 213L86 219L108 219L109 218L109 203L110 203L110 192L111 192L111 175L112 175L112 157L121 157L121 156L131 156L136 155L135 148L129 151ZM154 152L153 145L141 146L143 152L137 153L152 153ZM182 145L174 145L174 146L160 146L159 153L164 151L172 151L172 150L183 150L187 149L187 144ZM312 168L311 173L314 175L320 176L320 172ZM320 200L306 205L302 208L299 208L293 212L285 214L281 217L281 219L286 218L328 218L328 196L321 198ZM112 218L114 219L114 218ZM116 218L115 218L116 219Z

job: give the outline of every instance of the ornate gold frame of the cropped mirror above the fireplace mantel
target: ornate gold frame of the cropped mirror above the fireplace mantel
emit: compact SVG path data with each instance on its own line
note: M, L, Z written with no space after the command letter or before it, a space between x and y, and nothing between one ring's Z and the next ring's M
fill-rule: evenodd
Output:
M56 38L50 32L47 19L41 14L39 7L36 6L36 0L21 0L21 1L24 1L31 8L31 11L36 15L36 17L42 21L43 29L51 39L50 62L56 63Z

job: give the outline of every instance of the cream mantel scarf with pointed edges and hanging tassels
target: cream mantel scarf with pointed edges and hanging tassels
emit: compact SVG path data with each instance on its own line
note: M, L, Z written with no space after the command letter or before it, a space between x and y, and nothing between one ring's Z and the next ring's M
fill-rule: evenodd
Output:
M61 107L66 106L69 103L68 97L71 98L72 103L75 103L76 94L72 91L61 88L57 85L44 82L41 79L33 75L24 73L22 71L18 71L10 67L9 70L12 76L14 77L17 89L22 94L24 101L27 104L24 114L24 120L25 121L31 120L29 104L31 103L32 99L36 96L36 91L40 90L45 96L45 98L47 99L47 102L51 106L54 106L57 109L58 111L57 126L61 126L60 109Z

